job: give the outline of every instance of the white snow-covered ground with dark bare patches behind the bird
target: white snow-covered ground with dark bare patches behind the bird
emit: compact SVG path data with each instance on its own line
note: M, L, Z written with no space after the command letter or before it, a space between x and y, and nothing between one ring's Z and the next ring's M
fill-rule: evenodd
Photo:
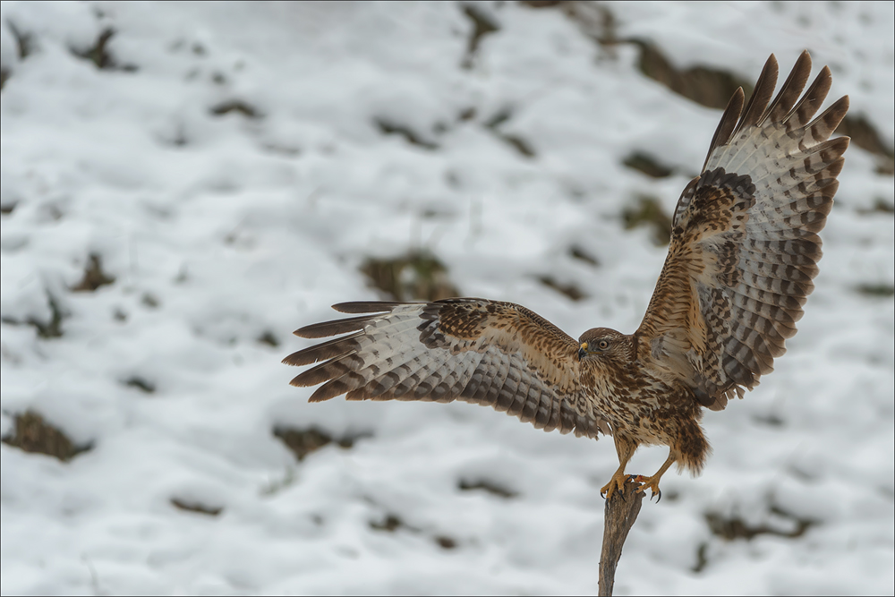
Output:
M464 6L2 4L0 433L30 411L92 445L0 447L3 593L595 593L611 440L466 404L309 405L280 364L309 345L294 328L378 296L364 260L417 249L574 337L643 317L665 248L621 214L641 195L670 211L720 112L556 8L477 4L499 30L470 54ZM831 99L895 141L892 3L605 6L619 38L744 80L807 47ZM75 55L108 28L109 67ZM675 174L623 166L635 151ZM644 502L617 594L895 592L878 163L848 150L799 334L706 414L703 475ZM115 281L72 291L91 256ZM60 337L26 323L54 310ZM299 462L273 434L311 427L357 439ZM461 489L478 483L515 495ZM725 539L734 520L772 532Z

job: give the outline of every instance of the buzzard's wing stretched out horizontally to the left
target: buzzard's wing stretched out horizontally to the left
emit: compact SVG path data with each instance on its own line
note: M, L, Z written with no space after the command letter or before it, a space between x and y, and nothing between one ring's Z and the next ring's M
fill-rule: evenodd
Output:
M348 334L284 359L321 364L294 386L323 385L311 402L465 400L515 414L535 427L597 437L609 433L589 413L578 382L578 343L550 321L512 303L447 299L434 303L340 303L364 313L295 331L301 337Z

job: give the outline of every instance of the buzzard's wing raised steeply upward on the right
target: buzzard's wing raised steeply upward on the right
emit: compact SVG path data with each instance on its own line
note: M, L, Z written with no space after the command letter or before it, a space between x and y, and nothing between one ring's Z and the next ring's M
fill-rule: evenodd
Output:
M848 148L847 137L828 139L848 96L812 120L831 75L824 67L799 99L810 72L804 52L769 105L771 55L742 116L743 91L731 98L703 174L678 200L669 255L637 330L644 359L713 410L773 370L814 288L817 233Z

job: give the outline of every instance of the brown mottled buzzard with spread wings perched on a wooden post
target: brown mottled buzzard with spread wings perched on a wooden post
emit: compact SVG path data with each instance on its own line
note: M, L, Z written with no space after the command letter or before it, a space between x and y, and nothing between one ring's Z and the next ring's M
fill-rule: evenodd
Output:
M724 110L702 174L678 200L668 257L634 334L592 328L575 341L523 306L484 299L339 303L358 315L295 331L346 335L287 356L290 365L320 362L292 385L323 384L311 402L464 400L545 431L611 434L619 465L601 490L607 499L624 492L639 446L668 446L658 472L630 476L661 499L669 466L703 469L703 407L723 409L772 371L814 288L817 233L849 141L830 135L848 96L813 119L830 69L800 97L811 72L803 52L771 101L777 71L771 55L745 109L739 89Z

